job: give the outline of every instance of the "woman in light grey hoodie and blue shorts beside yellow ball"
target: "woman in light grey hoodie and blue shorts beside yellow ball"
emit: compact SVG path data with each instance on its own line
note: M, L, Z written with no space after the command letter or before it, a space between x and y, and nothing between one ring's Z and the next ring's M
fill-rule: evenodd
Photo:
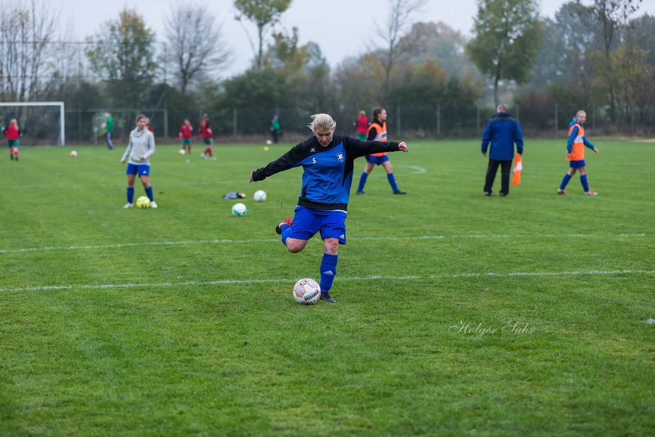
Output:
M147 117L140 114L136 117L136 128L130 132L130 143L127 150L121 158L121 164L127 163L127 203L123 208L132 208L134 206L134 180L136 175L141 178L145 194L150 199L150 207L157 208L153 198L153 187L148 181L150 174L150 157L155 153L155 136L145 128Z

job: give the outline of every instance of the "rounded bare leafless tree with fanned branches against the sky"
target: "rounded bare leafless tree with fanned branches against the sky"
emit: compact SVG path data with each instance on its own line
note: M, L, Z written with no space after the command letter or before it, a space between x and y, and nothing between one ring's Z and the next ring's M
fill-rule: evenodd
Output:
M166 28L172 47L168 57L175 64L182 94L189 83L210 74L231 57L221 26L206 5L178 1L166 17Z

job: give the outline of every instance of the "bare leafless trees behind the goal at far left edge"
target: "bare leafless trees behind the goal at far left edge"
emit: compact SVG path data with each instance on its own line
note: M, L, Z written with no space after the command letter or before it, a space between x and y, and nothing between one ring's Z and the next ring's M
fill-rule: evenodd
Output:
M37 100L41 77L52 66L47 47L52 42L59 14L43 0L24 5L2 4L0 9L0 100Z

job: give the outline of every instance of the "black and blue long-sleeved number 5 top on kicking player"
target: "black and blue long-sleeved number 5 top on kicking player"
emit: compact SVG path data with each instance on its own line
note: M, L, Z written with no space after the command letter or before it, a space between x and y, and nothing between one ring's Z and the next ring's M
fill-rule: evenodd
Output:
M295 145L276 161L255 170L252 180L261 181L284 170L303 166L303 187L298 205L316 210L346 211L354 160L373 153L398 151L399 144L335 135L327 147L323 147L312 136Z

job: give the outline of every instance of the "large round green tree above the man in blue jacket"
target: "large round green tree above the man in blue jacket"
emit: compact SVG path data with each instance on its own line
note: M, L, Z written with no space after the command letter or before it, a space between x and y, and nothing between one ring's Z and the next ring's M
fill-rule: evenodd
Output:
M493 80L498 105L498 81L525 83L542 43L544 24L534 0L479 0L474 20L476 36L466 52L479 70Z

